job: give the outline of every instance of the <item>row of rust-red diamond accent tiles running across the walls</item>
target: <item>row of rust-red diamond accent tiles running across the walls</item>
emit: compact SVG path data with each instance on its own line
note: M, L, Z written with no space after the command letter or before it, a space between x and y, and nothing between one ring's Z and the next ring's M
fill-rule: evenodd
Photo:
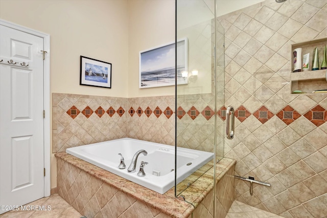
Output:
M101 106L95 111L93 111L89 106L86 106L82 111L77 109L75 105L73 105L71 108L69 108L66 113L71 116L73 119L77 117L80 113L82 113L86 118L89 118L93 113L96 113L100 118L107 113L110 117L112 117L115 113L117 113L119 116L122 116L125 113L125 110L123 107L119 107L116 111L113 109L112 106L110 106L107 111L105 111ZM139 117L144 113L147 117L149 117L152 113L159 118L160 115L163 113L165 116L169 119L173 114L174 111L167 107L165 110L161 110L159 106L157 106L153 111L148 106L144 111L141 107L138 107L136 110L134 110L133 107L131 107L128 110L128 113L130 116L133 116L134 114L137 114ZM185 110L180 106L177 109L177 117L179 119L183 118L183 116L186 114ZM215 112L212 108L209 106L206 106L201 113L195 108L195 106L192 106L187 114L194 120L197 118L200 114L206 119L209 120L211 117L214 116ZM217 111L218 116L222 119L226 119L226 107L223 106ZM248 118L251 115L250 111L248 111L243 105L241 105L238 109L235 111L235 116L240 120L242 123L246 118ZM279 119L281 119L286 125L290 125L294 122L294 120L298 119L301 114L298 113L295 109L293 109L291 106L287 105L285 108L283 108L281 111L275 114ZM262 124L266 123L271 117L274 116L274 114L268 110L265 106L262 106L258 110L256 110L253 113L253 116L257 118ZM310 122L312 122L314 125L319 127L320 125L327 122L327 110L325 110L320 105L316 105L312 109L310 109L307 113L305 113L303 116L305 116Z

